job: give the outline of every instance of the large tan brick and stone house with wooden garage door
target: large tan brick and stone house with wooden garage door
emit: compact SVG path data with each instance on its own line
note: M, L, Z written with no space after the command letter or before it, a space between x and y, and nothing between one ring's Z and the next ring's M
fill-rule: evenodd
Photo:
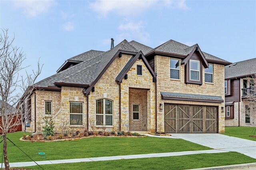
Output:
M52 117L77 128L187 133L224 132L224 65L195 44L151 48L122 41L65 61L35 84L31 127ZM121 125L120 125L121 123Z

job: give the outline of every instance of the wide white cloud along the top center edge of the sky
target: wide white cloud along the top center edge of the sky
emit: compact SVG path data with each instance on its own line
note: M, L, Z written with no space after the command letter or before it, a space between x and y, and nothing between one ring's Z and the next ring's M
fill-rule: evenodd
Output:
M178 8L182 10L189 9L184 0L99 0L90 3L90 8L103 17L106 17L111 12L122 16L136 16L150 8L157 7Z

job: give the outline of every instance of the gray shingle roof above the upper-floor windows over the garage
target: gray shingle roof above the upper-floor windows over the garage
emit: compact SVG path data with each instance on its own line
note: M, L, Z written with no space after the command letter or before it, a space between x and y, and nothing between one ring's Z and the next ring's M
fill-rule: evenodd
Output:
M166 52L166 53L188 55L192 51L192 49L195 45L188 46L188 45L185 45L183 43L176 42L174 40L169 40L168 42L163 43L162 45L159 45L158 47L152 49L148 53L150 53L152 51L161 51L161 52ZM206 59L228 62L224 59L220 59L218 57L215 57L214 55L210 55L210 54L205 53L205 52L202 52L202 53L204 54Z

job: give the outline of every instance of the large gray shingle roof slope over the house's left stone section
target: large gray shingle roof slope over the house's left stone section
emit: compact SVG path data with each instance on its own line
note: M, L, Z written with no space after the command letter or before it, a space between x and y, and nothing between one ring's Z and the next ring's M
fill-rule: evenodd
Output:
M89 84L94 81L118 50L137 51L126 40L116 45L113 49L102 53L97 57L85 60L73 67L56 73L46 79L35 83L38 87L54 86L54 82Z

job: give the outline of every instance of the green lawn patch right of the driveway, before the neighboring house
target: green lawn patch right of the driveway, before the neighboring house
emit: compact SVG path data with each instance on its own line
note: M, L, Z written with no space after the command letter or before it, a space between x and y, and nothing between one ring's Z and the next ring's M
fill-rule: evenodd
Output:
M256 137L250 137L250 135L254 135L254 130L256 127L225 127L224 134L256 141Z

